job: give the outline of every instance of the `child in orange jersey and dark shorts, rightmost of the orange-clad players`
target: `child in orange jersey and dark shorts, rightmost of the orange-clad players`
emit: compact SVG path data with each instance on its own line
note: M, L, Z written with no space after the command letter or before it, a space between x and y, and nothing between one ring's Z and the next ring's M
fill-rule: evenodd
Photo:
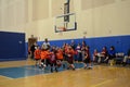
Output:
M75 65L74 65L74 54L75 54L75 51L72 49L70 46L68 47L66 54L67 54L67 61L69 63L68 69L75 70Z

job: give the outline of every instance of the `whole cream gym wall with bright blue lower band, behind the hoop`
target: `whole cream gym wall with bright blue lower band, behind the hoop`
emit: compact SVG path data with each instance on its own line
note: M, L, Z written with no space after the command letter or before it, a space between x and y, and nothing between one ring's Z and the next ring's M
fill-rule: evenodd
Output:
M0 1L0 30L25 33L26 41L34 35L39 44L49 38L52 45L62 45L70 39L79 42L86 36L91 50L104 45L123 52L130 48L130 0L70 0L77 30L62 35L54 32L54 18L64 13L65 0Z

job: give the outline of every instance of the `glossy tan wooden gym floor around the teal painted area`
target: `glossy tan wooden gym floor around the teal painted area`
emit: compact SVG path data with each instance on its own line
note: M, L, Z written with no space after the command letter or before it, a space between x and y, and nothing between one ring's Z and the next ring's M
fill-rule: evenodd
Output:
M31 64L30 60L0 62L0 69ZM0 75L0 87L130 87L130 69L95 65L93 70L66 70L22 78Z

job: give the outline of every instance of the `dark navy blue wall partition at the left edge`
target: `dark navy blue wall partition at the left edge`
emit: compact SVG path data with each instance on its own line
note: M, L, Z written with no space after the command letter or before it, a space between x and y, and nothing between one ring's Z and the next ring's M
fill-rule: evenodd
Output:
M0 61L24 60L25 34L0 32Z

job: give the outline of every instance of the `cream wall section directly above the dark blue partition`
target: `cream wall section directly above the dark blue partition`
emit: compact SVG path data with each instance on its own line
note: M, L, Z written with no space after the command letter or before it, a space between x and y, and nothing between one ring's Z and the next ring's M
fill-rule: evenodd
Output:
M1 0L1 2L2 27L0 30L25 33L25 0Z

